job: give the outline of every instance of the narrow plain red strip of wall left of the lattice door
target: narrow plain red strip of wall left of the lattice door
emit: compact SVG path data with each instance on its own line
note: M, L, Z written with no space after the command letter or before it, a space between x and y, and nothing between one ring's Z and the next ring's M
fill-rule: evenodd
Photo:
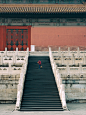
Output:
M6 47L6 26L0 26L0 51Z

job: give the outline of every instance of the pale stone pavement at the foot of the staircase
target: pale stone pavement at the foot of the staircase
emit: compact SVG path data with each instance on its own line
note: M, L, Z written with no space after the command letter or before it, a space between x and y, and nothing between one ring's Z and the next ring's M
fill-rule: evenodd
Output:
M15 104L0 104L0 115L86 115L86 103L68 103L67 111L15 111Z

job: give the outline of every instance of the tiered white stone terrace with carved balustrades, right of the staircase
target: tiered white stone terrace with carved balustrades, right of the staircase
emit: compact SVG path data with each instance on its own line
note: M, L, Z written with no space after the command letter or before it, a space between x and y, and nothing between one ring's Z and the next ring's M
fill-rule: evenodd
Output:
M86 51L59 49L53 58L65 84L66 101L86 102Z

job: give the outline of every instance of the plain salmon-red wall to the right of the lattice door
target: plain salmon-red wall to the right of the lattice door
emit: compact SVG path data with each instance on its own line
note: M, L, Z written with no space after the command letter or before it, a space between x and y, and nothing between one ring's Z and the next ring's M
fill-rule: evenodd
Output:
M31 44L36 46L86 46L86 27L32 27Z

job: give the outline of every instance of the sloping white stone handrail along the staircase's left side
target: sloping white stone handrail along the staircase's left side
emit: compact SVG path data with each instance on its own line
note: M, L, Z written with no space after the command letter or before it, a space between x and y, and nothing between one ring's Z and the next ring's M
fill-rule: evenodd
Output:
M21 73L20 73L20 78L19 78L19 84L17 87L17 101L16 101L16 110L20 110L21 106L21 100L22 100L22 95L23 95L23 89L24 89L24 81L25 81L25 74L27 71L27 64L28 64L28 57L29 57L29 51L27 50L27 54L25 56L25 63L23 64Z

